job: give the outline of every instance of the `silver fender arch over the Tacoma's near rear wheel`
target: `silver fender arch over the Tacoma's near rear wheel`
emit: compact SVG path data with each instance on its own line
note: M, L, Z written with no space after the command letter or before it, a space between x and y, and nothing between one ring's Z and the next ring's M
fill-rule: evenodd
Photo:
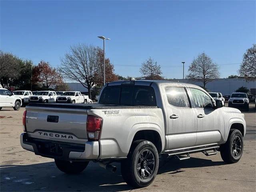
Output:
M142 131L142 130L153 130L153 131L158 132L158 134L160 135L160 138L161 138L161 143L162 143L161 152L162 152L164 150L164 143L165 143L164 132L162 131L160 126L158 126L158 124L154 124L154 123L138 123L138 124L134 124L134 126L132 126L132 128L130 130L130 134L128 135L128 139L127 139L128 152L130 150L130 146L132 145L132 140L133 140L135 134L138 131Z

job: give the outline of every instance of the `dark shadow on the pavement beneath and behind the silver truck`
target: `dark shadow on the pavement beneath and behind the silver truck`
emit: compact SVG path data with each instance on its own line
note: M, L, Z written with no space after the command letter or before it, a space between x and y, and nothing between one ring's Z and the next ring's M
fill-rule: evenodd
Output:
M160 158L158 174L183 172L182 168L218 166L224 162L190 158L177 161L174 158ZM111 173L98 164L90 162L81 174L68 175L60 172L54 162L31 165L0 166L1 191L124 191L132 187L124 183L120 173L120 164L116 173Z

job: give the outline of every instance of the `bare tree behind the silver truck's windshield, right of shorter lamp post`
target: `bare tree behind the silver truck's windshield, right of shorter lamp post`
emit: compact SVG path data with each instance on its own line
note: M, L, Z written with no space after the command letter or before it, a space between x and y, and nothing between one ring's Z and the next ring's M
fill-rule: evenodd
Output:
M208 82L220 77L218 64L214 63L205 53L199 54L198 57L192 61L188 71L190 73L187 75L187 78L199 80L203 83L204 89Z

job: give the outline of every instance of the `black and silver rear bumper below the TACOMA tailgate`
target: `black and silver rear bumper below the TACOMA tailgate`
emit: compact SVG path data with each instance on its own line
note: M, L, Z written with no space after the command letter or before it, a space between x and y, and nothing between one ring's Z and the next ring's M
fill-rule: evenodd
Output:
M62 160L97 160L99 157L99 142L73 144L56 142L37 138L29 138L26 133L20 135L22 148L48 158Z

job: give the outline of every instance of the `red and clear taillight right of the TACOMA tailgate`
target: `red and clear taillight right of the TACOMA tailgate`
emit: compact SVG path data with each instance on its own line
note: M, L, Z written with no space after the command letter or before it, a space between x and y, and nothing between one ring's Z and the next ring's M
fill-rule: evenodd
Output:
M101 127L102 118L93 115L87 115L86 131L88 140L99 140Z

